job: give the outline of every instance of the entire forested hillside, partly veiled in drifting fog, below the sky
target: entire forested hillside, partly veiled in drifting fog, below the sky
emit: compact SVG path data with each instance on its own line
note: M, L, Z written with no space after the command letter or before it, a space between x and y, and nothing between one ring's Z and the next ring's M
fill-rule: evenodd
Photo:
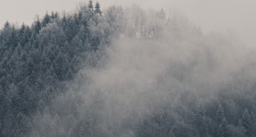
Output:
M255 137L256 52L179 12L89 0L0 29L0 137Z

